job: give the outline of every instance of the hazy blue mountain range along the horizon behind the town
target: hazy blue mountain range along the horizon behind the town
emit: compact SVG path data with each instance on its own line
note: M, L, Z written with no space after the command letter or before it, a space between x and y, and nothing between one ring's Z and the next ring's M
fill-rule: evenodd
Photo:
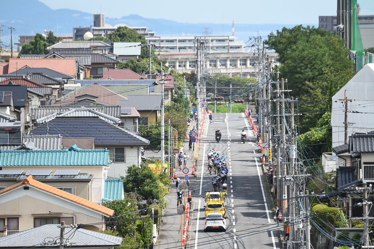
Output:
M55 35L57 33L60 35L72 34L73 27L89 27L93 25L93 13L70 9L53 10L37 0L3 1L2 9L0 25L7 25L7 27L2 28L1 34L9 34L10 31L7 28L10 26L14 27L16 30L13 33L13 43L18 42L19 35L43 33L44 30L52 30ZM105 22L113 26L119 23L132 27L146 26L148 30L155 31L156 36L200 36L205 31L205 28L209 28L209 32L213 36L232 35L232 24L190 24L166 19L144 18L139 15L123 16L122 18L105 16ZM247 42L248 37L257 36L257 32L265 38L271 31L293 26L289 24L235 24L235 36L238 40ZM10 37L3 38L5 38L5 44L10 44Z

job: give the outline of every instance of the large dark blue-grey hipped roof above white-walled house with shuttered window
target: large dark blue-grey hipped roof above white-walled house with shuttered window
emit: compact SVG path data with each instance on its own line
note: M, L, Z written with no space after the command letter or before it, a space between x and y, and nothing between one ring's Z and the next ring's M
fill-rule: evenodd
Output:
M99 117L56 117L33 129L33 134L63 134L70 138L95 138L96 145L148 145L149 141ZM0 161L1 164L1 161Z

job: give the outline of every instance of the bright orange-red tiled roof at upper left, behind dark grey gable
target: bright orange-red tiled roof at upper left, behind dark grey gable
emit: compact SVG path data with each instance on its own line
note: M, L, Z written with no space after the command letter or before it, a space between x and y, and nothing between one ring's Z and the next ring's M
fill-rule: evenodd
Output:
M42 58L20 59L10 58L8 73L12 73L25 66L31 68L49 68L70 76L76 75L75 59Z

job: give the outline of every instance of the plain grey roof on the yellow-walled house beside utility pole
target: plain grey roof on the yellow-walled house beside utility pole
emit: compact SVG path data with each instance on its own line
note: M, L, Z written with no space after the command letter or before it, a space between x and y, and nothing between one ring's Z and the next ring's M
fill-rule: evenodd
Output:
M120 101L121 107L134 107L138 111L152 111L160 110L161 108L161 95L128 95L127 101Z

